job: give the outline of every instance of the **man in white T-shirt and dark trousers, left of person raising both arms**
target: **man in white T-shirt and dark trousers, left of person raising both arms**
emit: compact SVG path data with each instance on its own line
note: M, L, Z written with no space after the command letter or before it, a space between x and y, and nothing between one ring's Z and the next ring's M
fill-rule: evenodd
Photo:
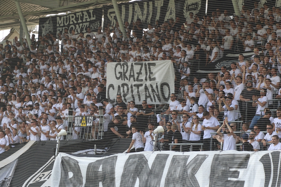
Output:
M203 120L202 130L204 130L203 136L203 150L209 151L210 149L214 149L214 145L211 145L211 132L216 132L219 129L219 121L210 115L209 112L204 111L203 116L205 119Z

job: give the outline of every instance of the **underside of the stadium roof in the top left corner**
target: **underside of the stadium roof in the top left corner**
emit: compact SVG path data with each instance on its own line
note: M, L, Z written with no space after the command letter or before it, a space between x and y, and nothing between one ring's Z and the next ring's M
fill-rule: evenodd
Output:
M76 12L111 4L111 0L16 0L20 3L27 26L39 24L39 18L49 14ZM117 0L117 3L125 2ZM128 2L128 1L127 1ZM15 1L2 0L0 30L20 27L20 18Z

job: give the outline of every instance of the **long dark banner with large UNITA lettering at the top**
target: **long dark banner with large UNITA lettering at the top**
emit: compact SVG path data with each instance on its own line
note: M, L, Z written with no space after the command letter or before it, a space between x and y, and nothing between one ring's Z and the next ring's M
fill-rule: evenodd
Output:
M118 8L123 23L131 25L140 19L143 24L154 25L157 21L162 24L169 19L175 20L178 17L181 23L189 17L189 12L197 14L204 0L155 0L155 1L134 1L131 3L120 3ZM204 4L206 1L204 1ZM113 6L104 7L104 26L113 26L117 22Z

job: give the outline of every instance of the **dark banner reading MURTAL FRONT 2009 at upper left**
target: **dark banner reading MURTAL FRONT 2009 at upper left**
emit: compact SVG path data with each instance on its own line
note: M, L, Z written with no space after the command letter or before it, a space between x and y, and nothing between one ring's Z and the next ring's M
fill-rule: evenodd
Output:
M75 34L86 33L90 28L91 32L97 32L102 23L102 8L88 9L60 16L50 16L40 18L39 36L46 34L64 34L67 29L68 34L75 30Z

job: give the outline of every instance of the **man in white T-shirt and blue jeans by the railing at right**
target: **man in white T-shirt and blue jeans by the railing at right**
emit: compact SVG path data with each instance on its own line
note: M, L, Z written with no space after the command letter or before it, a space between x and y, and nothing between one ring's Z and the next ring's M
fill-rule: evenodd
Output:
M264 112L261 111L264 108L268 107L268 99L265 96L266 95L266 88L261 88L260 90L260 97L253 95L252 99L253 99L253 103L252 106L253 107L257 107L257 111L256 111L256 115L254 116L254 118L252 119L252 122L250 124L250 129L253 129L253 127L255 126L255 124L257 123L257 121L264 115Z

